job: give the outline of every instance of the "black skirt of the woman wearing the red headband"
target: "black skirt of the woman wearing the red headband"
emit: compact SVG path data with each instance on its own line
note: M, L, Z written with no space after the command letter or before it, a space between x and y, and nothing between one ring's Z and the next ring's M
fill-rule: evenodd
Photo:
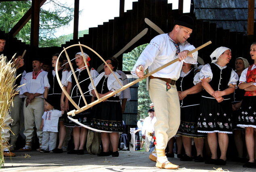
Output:
M83 107L85 104L84 104L84 101L80 100L80 103L79 103L79 97L74 97L72 98L73 101L75 101L77 104L79 104L79 107ZM85 96L85 99L86 99L86 102L90 103L91 102L91 96ZM73 109L76 109L76 107L74 107L72 105L72 103L69 102L69 110L73 110ZM78 122L86 125L86 126L90 126L90 118L91 117L91 109L87 109L85 111L82 111L81 113L78 113L76 114L75 116L73 116L72 118L73 119L77 119ZM76 124L74 123L73 121L69 120L66 116L66 120L65 120L65 124L64 124L66 127L81 127L79 124Z

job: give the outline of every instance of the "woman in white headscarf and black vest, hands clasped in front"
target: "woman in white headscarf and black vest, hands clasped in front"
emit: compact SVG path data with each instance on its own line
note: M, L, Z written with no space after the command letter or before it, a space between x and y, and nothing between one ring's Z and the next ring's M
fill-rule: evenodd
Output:
M225 165L228 134L232 134L232 104L230 94L234 92L238 76L232 68L227 67L231 60L231 50L219 47L210 55L211 64L206 64L199 72L199 78L194 83L201 82L202 92L198 119L198 132L208 135L208 144L212 157L206 164ZM220 159L217 156L217 147L220 147Z

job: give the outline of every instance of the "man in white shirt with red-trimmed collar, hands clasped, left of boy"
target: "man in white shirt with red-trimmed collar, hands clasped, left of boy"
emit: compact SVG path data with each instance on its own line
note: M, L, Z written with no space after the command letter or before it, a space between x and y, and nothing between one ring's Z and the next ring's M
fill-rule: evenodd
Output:
M43 63L39 58L32 61L33 71L23 78L24 86L21 87L20 96L25 97L23 105L24 113L24 135L26 136L25 147L19 151L31 151L34 127L39 139L40 148L42 145L42 130L40 130L42 115L44 113L44 92L50 88L47 72L42 69ZM46 93L48 93L46 91Z

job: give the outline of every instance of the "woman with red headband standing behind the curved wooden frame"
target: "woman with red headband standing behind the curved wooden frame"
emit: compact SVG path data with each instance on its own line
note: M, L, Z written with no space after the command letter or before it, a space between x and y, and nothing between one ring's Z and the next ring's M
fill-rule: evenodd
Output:
M90 57L86 53L84 53L84 56L87 61L90 61ZM90 84L90 79L89 79L90 76L87 72L86 65L84 63L84 59L82 56L82 52L76 53L75 57L76 57L76 60L75 60L76 65L78 66L78 68L76 69L75 75L78 79L78 82L84 94L86 103L89 104L92 102L92 96L90 96L88 91L88 86ZM99 73L94 68L90 68L90 73L91 73L92 79L96 78L99 75ZM70 97L79 107L83 107L85 106L85 103L79 91L78 84L76 83L76 80L74 78L74 74L71 74L71 71L70 71L70 75L71 77L68 80L67 92L70 94ZM65 104L67 106L68 99L66 100L67 101L65 102ZM73 110L73 109L76 109L76 107L74 107L72 103L69 102L68 109ZM82 111L81 113L76 114L73 118L77 119L78 122L84 125L90 125L90 117L91 117L91 109L89 108L85 111ZM67 119L67 121L65 122L65 126L73 128L73 139L74 139L74 149L67 153L83 155L84 144L86 143L88 129L81 127L80 125L72 122L69 119Z

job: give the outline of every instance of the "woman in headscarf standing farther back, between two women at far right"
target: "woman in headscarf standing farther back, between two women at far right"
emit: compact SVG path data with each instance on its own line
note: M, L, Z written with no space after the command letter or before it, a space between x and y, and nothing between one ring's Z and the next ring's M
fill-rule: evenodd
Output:
M238 57L235 59L235 71L240 78L241 73L244 69L249 67L249 62L247 59L243 57ZM237 81L237 85L239 85L239 81ZM235 141L235 146L237 148L237 157L234 157L235 161L244 162L245 158L243 158L243 145L244 145L244 128L237 127L238 116L240 115L240 107L243 99L243 95L245 90L239 89L239 87L235 88L234 93L231 96L232 102L232 117L233 117L233 136Z

